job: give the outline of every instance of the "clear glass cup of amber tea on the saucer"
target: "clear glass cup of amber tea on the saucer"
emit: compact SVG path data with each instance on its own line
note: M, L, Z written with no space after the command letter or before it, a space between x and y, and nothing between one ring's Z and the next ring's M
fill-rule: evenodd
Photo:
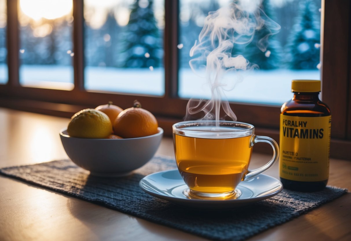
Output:
M220 123L216 126L211 121L197 121L173 125L177 167L192 195L233 195L243 178L267 169L260 169L259 173L258 169L248 171L255 139L258 142L259 138L269 137L255 136L254 127L249 124Z

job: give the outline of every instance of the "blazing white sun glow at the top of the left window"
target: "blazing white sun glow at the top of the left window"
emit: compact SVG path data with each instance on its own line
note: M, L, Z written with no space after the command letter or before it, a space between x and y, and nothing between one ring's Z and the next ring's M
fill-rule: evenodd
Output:
M24 14L34 20L56 19L69 14L73 8L72 0L20 0Z

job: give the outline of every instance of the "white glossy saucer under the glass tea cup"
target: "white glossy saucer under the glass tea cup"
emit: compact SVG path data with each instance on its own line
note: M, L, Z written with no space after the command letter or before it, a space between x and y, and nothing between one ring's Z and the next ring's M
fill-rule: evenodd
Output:
M241 195L235 199L194 199L184 195L184 191L188 189L188 187L180 176L178 169L150 174L140 180L139 187L148 194L181 206L212 209L228 209L245 206L253 202L270 198L283 190L283 184L276 178L259 174L249 180L240 182L237 189L241 191Z

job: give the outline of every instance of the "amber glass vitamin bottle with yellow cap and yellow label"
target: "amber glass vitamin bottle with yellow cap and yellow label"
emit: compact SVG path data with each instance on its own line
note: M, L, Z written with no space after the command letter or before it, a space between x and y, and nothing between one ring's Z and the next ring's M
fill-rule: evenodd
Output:
M290 190L322 190L329 178L330 109L319 100L320 80L292 80L291 92L280 113L280 181Z

